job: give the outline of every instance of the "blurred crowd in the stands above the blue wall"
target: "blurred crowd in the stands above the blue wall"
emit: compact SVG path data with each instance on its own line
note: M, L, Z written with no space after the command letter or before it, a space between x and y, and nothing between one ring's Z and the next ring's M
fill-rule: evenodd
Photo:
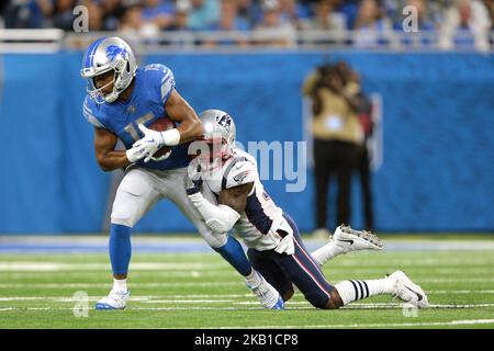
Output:
M351 30L351 45L375 47L390 33L404 32L403 9L413 5L417 30L430 33L435 45L485 49L494 22L494 0L8 0L0 4L0 27L72 31L79 4L89 10L89 31L144 38L169 31L238 31L281 45L293 44L300 30ZM238 37L235 44L251 41ZM427 46L427 35L418 44Z

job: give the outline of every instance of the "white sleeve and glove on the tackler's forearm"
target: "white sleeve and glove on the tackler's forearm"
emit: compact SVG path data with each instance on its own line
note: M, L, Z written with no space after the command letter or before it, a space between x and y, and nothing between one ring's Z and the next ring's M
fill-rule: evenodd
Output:
M189 195L189 199L204 218L207 227L215 233L228 231L240 218L238 212L232 207L227 205L213 205L200 192Z

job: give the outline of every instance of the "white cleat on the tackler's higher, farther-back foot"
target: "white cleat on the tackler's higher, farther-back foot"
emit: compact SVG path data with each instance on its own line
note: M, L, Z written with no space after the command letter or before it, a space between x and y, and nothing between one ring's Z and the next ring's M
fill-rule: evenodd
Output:
M340 225L333 235L333 241L344 249L344 253L358 250L382 250L381 240L370 231L356 230Z

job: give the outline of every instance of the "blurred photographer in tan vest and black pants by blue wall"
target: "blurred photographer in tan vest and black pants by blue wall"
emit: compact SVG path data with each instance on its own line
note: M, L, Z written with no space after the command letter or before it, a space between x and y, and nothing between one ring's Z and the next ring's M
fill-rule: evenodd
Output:
M313 100L315 236L327 237L327 192L330 176L338 183L337 223L350 222L351 174L358 159L363 132L352 97L344 89L338 69L325 65L305 81L302 92ZM333 230L332 230L333 231Z

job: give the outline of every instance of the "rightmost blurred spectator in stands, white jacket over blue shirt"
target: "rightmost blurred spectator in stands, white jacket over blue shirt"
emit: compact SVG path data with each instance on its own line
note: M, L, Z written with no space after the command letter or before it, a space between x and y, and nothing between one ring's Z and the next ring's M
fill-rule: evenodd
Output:
M457 0L447 10L441 26L441 48L487 50L491 18L485 4L479 0Z

